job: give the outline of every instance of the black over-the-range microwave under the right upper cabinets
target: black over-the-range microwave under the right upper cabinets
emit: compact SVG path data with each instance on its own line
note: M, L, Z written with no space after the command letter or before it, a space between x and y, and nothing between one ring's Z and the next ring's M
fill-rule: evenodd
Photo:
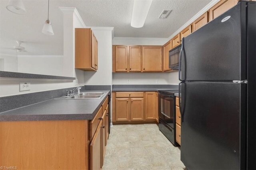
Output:
M179 56L181 44L169 51L169 68L173 70L179 69Z

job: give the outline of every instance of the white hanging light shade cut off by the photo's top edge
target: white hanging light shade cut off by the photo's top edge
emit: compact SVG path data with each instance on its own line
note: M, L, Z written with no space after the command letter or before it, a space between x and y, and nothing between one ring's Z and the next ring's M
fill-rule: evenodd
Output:
M15 14L25 14L26 9L22 0L9 0L6 9Z

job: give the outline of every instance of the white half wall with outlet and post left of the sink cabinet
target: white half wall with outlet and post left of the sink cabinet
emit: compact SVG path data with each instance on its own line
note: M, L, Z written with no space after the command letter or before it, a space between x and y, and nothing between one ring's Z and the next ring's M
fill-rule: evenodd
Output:
M74 28L82 28L85 27L85 25L75 8L64 8L62 9L62 12L64 13L64 65L62 69L63 71L66 71L66 75L64 76L76 77L76 80L16 79L0 77L0 97L62 89L85 84L84 71L74 69ZM31 90L20 92L19 83L24 81L31 83Z

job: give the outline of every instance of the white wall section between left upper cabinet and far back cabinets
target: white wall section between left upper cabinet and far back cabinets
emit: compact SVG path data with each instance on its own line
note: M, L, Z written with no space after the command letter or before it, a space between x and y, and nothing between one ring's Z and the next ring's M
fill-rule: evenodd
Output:
M112 30L92 27L98 40L98 70L84 73L86 85L112 85Z

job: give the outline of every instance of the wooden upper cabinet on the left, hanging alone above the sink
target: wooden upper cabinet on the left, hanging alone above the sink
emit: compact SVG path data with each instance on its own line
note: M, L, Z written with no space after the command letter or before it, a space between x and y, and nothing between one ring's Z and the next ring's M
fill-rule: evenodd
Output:
M75 28L75 68L98 69L98 41L90 28Z

